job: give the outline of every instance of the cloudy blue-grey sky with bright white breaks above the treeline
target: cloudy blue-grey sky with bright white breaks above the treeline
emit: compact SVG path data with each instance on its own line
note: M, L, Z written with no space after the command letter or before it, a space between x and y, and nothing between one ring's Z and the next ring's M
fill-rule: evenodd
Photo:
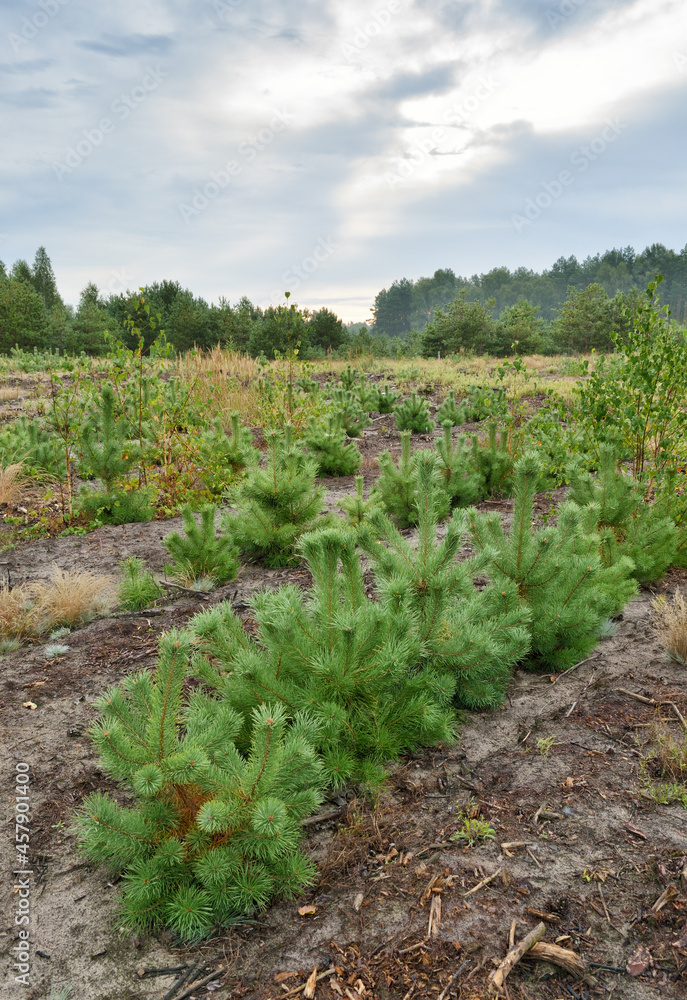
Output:
M687 244L684 0L0 0L0 259L369 319Z

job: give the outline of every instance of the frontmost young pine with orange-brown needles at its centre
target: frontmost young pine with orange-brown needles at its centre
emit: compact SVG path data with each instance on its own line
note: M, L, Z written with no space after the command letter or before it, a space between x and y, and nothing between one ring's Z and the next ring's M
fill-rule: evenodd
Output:
M81 850L123 871L125 922L184 940L312 881L299 821L323 787L312 718L288 726L281 706L263 704L246 723L223 699L185 694L189 652L168 633L154 675L132 675L99 700L91 738L132 804L96 793L78 815Z

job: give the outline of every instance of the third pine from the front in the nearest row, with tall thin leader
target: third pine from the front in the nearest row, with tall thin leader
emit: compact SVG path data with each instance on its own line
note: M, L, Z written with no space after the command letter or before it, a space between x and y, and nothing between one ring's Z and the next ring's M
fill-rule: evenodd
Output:
M431 454L421 454L417 476L417 546L379 512L362 528L361 544L373 559L390 613L404 608L411 612L420 640L420 665L451 676L458 704L493 707L503 700L512 666L529 648L529 612L514 588L476 591L473 579L488 564L490 553L456 561L467 530L464 512L454 511L446 534L437 541L441 494Z

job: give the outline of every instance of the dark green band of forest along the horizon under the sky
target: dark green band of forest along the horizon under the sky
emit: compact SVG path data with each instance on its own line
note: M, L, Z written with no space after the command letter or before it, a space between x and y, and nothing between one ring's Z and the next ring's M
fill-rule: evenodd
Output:
M624 332L657 274L664 278L662 302L684 323L687 246L677 253L662 244L639 254L613 249L582 263L560 257L541 273L498 267L466 278L445 268L415 281L401 278L378 292L368 323L348 325L324 307L299 311L294 328L293 314L284 322L283 306L261 308L245 296L208 303L178 281L155 282L143 294L178 352L220 344L269 359L294 346L305 358L504 356L515 345L520 353L571 354L612 349L610 333ZM9 269L0 261L0 353L104 354L106 331L127 342L126 317L138 297L138 290L105 296L90 282L74 307L63 301L44 247L33 265L18 260Z

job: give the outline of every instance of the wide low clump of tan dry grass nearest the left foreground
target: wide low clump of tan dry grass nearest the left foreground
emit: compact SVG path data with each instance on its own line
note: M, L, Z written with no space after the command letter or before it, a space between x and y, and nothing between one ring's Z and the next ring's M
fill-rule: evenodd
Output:
M55 567L50 580L0 588L0 636L28 639L105 614L113 600L107 577Z

